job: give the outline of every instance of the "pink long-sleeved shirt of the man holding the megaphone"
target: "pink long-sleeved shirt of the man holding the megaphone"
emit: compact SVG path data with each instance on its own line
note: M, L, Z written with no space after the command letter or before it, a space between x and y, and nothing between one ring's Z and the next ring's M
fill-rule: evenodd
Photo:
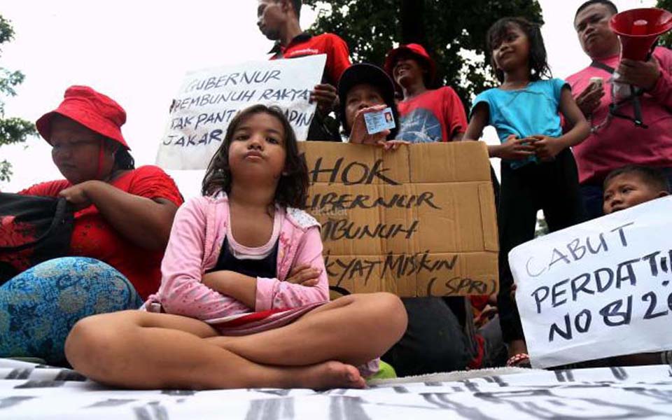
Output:
M659 47L654 50L654 57L660 66L660 78L650 92L640 97L643 121L648 128L636 127L632 121L623 118L612 118L607 125L574 146L580 183L601 183L609 172L628 164L672 167L672 52ZM615 69L620 59L615 55L599 61ZM567 81L577 97L589 85L591 77L604 80L605 95L591 118L591 125L597 126L607 117L611 104L611 74L588 66ZM634 115L631 103L618 111Z

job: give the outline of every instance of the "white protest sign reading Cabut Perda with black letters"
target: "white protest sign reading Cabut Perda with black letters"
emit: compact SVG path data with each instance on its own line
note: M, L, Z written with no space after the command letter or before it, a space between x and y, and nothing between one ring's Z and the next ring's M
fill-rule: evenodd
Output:
M534 367L672 349L671 209L654 200L509 253Z

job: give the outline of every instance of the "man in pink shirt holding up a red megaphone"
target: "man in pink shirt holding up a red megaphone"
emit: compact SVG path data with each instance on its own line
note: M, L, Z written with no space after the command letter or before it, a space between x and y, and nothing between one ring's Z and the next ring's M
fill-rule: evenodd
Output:
M574 28L593 60L567 78L591 135L573 148L589 218L602 216L602 183L628 164L662 169L672 181L672 52L653 49L672 28L661 9L618 13L609 0L589 0Z

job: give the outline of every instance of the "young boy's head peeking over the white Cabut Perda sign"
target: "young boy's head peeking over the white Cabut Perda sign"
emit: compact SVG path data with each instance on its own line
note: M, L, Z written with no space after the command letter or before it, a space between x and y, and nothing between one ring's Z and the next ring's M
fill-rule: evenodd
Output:
M604 180L603 211L629 209L670 194L670 184L659 169L626 165L610 172Z

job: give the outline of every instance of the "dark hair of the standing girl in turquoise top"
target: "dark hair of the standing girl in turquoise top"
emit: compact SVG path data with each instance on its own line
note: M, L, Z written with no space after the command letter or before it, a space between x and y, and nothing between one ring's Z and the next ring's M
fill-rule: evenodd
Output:
M551 78L551 69L547 62L544 38L541 36L539 25L530 22L525 18L502 18L488 29L486 37L487 51L490 54L490 65L492 66L495 77L499 80L499 83L504 82L504 72L497 68L492 51L499 45L512 26L519 27L519 29L527 36L530 43L530 81L535 82L544 77Z

